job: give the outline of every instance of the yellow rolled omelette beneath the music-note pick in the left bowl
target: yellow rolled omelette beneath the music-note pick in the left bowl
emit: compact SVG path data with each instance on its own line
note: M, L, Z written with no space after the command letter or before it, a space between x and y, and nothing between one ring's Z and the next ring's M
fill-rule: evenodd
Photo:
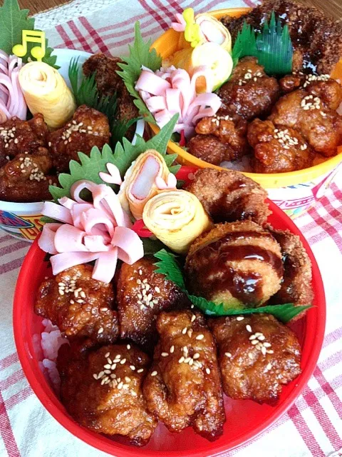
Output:
M52 66L39 61L24 65L19 71L19 84L31 113L43 114L51 129L59 129L73 116L73 94Z

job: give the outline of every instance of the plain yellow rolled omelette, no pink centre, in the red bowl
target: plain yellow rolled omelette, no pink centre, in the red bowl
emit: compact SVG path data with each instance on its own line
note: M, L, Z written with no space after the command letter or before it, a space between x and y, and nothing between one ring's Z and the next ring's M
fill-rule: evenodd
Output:
M177 253L212 225L197 196L183 190L162 191L147 201L142 214L147 229Z

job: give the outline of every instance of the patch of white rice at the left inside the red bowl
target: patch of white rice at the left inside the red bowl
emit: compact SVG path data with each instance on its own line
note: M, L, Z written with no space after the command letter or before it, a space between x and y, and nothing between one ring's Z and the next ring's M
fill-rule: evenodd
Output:
M48 319L43 320L44 331L41 333L41 349L43 351L43 361L39 362L39 367L44 375L51 381L56 392L59 392L61 387L61 378L56 368L56 359L59 348L68 343L66 338L63 338L61 331L57 326L53 326Z

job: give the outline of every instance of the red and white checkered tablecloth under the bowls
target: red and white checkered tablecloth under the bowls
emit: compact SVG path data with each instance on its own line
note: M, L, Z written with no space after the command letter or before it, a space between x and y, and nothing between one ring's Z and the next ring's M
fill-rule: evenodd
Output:
M116 0L109 6L103 1L102 9L87 16L89 0L83 1L84 16L46 30L53 46L120 55L127 51L136 20L140 20L142 35L153 39L167 29L176 12L187 6L197 12L253 6L251 0ZM77 11L82 4L78 1ZM68 9L63 11L67 18ZM39 21L42 18L40 15ZM326 336L318 366L288 413L258 438L226 453L226 457L342 456L341 172L316 208L296 219L296 224L316 255L326 289ZM25 241L0 232L0 456L104 457L105 453L74 438L49 415L21 370L11 309L16 278L27 250Z

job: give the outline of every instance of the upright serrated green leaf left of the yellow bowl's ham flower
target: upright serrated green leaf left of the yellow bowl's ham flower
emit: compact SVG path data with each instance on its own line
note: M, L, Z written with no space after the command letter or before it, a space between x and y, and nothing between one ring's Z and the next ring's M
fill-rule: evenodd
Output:
M140 99L138 91L135 90L135 84L139 79L142 66L146 66L152 71L159 70L162 66L162 57L157 54L155 49L150 49L151 42L151 39L148 41L142 39L140 23L139 21L135 22L135 39L132 45L128 45L130 55L121 57L123 62L119 63L118 66L122 71L117 71L117 73L123 79L130 95L135 99L134 104L139 113L144 116L147 122L155 124L154 117Z

